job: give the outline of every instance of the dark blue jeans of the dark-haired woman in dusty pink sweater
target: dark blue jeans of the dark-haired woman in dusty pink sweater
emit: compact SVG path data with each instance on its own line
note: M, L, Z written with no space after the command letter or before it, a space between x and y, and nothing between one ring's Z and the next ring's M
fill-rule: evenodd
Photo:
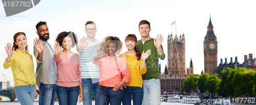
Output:
M61 105L75 105L78 100L79 86L76 87L61 87L56 86L56 93Z

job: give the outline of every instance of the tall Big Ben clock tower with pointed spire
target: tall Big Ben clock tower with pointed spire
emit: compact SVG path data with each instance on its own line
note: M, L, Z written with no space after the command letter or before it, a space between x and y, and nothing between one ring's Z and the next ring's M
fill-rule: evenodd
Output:
M215 69L218 67L217 54L218 54L218 41L214 34L214 26L209 21L207 27L207 34L204 37L203 43L204 49L204 72L209 75L213 74Z

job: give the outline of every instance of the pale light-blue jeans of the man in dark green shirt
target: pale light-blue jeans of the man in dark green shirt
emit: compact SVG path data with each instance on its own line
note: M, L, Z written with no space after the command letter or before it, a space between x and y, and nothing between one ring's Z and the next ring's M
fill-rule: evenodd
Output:
M143 80L143 105L160 105L161 89L159 79Z

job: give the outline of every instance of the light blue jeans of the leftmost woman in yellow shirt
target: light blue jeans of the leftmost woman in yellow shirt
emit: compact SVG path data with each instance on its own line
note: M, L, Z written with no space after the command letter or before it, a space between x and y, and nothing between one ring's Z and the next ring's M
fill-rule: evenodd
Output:
M35 85L14 87L14 93L19 103L22 105L33 105L35 99Z

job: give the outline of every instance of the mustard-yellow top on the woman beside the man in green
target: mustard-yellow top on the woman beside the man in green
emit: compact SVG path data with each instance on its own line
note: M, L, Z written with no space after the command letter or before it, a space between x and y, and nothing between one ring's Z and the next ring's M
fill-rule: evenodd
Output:
M146 73L146 67L142 68L142 58L137 60L137 57L134 55L128 56L126 52L121 54L119 57L122 57L127 62L127 65L130 70L131 79L125 86L131 87L141 87L142 88L142 74Z

